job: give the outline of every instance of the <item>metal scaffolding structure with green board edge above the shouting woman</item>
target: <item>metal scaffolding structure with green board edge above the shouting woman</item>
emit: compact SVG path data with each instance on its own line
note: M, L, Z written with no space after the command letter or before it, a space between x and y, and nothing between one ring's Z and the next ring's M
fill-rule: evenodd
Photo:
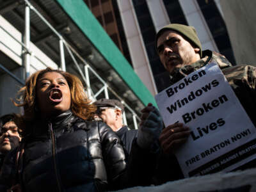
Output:
M120 42L106 12L105 26ZM22 113L11 99L30 74L46 67L78 76L91 100L123 102L131 129L141 109L156 104L83 0L0 0L0 34L0 116Z

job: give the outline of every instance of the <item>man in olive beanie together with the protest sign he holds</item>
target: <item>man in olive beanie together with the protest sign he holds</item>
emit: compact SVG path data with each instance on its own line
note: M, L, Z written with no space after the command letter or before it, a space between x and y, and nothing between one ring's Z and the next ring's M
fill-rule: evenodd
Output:
M195 28L181 24L162 28L156 49L172 85L156 96L166 125L159 141L184 176L255 166L255 67L202 51Z

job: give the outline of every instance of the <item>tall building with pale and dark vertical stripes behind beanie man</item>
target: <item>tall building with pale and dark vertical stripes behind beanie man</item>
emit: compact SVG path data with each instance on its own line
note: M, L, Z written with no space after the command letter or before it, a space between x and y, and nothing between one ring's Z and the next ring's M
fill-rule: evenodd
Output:
M85 2L90 6L92 0ZM93 0L93 2L98 2L99 9L100 4L112 2L111 6L114 7L112 14L115 13L113 22L116 22L118 31L125 35L125 38L121 38L121 43L125 47L123 49L126 50L124 55L129 56L127 58L131 61L134 71L152 95L168 87L170 78L161 65L154 47L157 31L166 24L194 26L203 49L220 52L236 65L218 0ZM93 8L91 10L95 12ZM99 15L95 16L99 17ZM106 31L108 32L108 29Z

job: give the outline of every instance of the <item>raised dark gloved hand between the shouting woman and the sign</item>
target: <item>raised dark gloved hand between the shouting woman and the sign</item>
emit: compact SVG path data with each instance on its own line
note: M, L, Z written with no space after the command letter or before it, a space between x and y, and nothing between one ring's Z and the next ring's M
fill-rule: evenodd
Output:
M163 129L163 120L159 111L151 103L142 109L141 113L137 143L141 148L150 148L159 138Z

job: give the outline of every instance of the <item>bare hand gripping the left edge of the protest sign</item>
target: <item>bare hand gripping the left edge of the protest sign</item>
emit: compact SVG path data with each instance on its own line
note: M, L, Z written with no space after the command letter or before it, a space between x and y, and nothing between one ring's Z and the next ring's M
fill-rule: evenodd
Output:
M159 142L165 154L170 154L182 143L185 143L190 134L189 128L184 124L172 124L163 129Z

